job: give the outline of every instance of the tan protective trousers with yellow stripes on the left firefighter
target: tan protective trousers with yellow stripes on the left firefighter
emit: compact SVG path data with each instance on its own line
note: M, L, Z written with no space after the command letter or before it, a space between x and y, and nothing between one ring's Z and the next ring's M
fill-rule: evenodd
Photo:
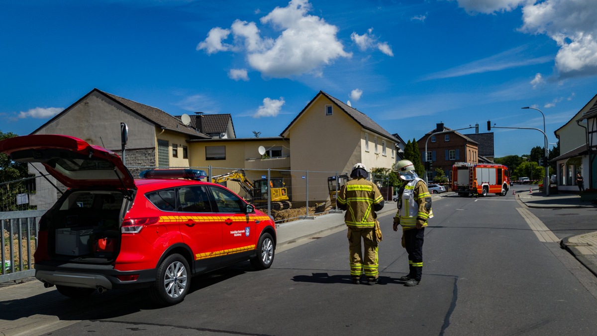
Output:
M348 227L348 242L350 252L350 276L360 279L362 271L368 280L377 279L377 248L375 228ZM365 259L361 251L361 237L365 245Z

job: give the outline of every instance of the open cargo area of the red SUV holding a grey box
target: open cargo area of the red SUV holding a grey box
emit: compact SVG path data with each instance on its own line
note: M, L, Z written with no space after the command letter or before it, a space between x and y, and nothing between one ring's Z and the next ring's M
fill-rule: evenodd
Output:
M65 194L44 216L50 259L109 263L118 256L125 198L118 191Z

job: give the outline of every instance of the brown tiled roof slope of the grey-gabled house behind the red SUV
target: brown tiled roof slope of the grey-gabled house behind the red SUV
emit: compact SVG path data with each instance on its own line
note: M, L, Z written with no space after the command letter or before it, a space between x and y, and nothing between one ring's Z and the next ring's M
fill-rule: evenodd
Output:
M94 90L97 90L97 88ZM159 127L172 130L174 132L184 133L197 138L211 138L206 134L198 132L192 127L185 126L179 118L167 114L159 108L153 108L151 106L147 106L141 103L134 102L133 100L115 96L114 94L110 94L101 90L97 91L101 94L105 94L106 96L112 98L113 100L124 105L128 109L131 109L131 111L137 112L137 114L141 115L142 117L146 118L147 120L151 121Z

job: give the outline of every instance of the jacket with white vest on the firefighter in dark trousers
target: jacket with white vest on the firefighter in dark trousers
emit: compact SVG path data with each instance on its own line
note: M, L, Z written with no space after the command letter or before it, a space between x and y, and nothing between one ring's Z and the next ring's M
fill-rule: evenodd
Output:
M427 219L433 218L431 194L429 194L427 185L422 179L416 178L409 181L404 186L400 201L402 205L396 216L400 216L400 225L404 230L414 228L417 225L417 220L425 227L427 226Z

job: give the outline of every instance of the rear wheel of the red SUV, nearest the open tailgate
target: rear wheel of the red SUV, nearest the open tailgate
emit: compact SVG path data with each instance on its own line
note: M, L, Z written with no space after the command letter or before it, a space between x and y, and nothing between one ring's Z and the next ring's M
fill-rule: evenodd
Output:
M190 289L189 263L180 254L167 256L158 267L158 277L150 288L155 303L172 306L181 303Z

